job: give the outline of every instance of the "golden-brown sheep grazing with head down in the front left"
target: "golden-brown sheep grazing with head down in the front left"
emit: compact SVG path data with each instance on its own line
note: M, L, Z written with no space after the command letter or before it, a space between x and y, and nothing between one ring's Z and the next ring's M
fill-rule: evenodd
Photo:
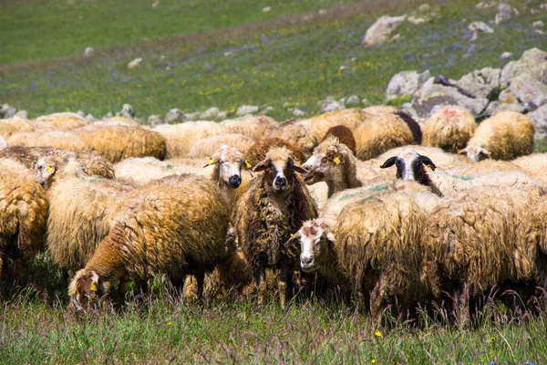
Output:
M183 209L181 209L183 207ZM230 207L210 179L171 175L134 189L120 204L108 235L68 287L73 308L108 295L111 282L165 274L175 285L203 280L226 254Z

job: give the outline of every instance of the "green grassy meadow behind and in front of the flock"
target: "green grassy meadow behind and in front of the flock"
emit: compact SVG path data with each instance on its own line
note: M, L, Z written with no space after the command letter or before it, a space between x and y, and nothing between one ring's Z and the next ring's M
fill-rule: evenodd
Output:
M318 113L327 96L381 103L400 70L459 78L500 68L504 51L518 58L531 47L547 50L530 14L471 42L470 22L495 15L471 0L160 0L155 9L153 0L73 2L0 0L0 102L31 118L65 110L100 118L129 102L142 120L171 108L232 112L243 104L272 106L270 115L284 120L290 107ZM401 26L396 42L360 45L378 16L424 2L438 18ZM83 57L88 46L95 57ZM128 69L135 57L142 64ZM516 319L488 307L471 328L421 315L418 326L397 320L376 336L366 316L332 298L302 298L283 311L276 302L259 307L255 297L200 306L160 291L76 318L64 292L56 297L65 290L58 270L43 260L32 273L25 289L0 283L0 364L547 362L545 313Z

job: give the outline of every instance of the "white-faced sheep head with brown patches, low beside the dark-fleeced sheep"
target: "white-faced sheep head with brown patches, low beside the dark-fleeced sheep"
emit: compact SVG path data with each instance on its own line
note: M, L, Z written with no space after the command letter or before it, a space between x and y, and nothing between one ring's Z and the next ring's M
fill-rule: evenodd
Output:
M329 252L333 251L335 236L318 219L306 221L285 244L286 247L300 244L300 268L310 272L321 265Z

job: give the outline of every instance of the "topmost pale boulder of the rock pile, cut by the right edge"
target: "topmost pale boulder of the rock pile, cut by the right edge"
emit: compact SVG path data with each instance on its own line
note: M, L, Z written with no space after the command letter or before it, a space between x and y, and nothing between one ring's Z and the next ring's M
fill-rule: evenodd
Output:
M501 69L500 87L507 88L511 78L527 73L532 78L547 84L547 52L532 48L525 51L517 61L511 61Z

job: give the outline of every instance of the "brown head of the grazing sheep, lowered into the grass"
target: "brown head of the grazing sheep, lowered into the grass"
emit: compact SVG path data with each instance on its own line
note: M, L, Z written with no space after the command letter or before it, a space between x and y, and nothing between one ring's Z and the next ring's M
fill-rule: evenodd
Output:
M82 310L97 304L108 293L109 287L109 283L96 271L85 268L79 270L68 287L70 308Z

